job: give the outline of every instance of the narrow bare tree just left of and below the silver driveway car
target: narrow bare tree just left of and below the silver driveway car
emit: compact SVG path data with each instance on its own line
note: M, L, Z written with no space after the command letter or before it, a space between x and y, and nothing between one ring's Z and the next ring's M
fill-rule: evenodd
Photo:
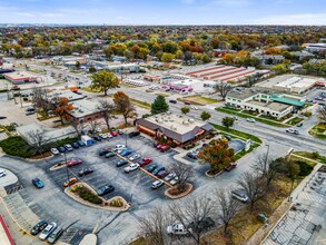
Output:
M240 203L233 198L231 194L226 189L219 189L216 192L217 202L217 217L224 224L224 234L227 234L227 228L231 219L236 216L240 209Z

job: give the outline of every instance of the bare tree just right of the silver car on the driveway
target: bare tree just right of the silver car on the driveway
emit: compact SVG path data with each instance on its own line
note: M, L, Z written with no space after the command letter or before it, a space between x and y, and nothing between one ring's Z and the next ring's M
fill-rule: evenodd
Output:
M254 205L266 195L266 184L261 178L248 171L246 171L237 183L241 190L248 196L250 210L253 210Z

